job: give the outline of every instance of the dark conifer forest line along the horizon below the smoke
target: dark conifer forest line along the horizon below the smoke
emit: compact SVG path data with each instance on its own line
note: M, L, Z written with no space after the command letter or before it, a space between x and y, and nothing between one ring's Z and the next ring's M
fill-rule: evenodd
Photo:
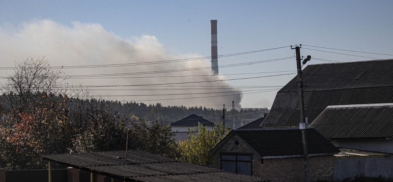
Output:
M0 103L2 109L7 110L7 104L5 104L5 96L1 95ZM61 96L60 96L61 97ZM61 99L61 98L58 98ZM142 102L127 102L122 103L119 101L105 100L105 99L80 99L80 98L68 98L69 109L81 109L84 108L81 104L102 104L105 103L107 108L111 108L117 112L121 117L133 117L130 119L142 119L144 121L162 121L163 123L170 124L181 120L189 115L195 114L202 116L204 119L212 122L220 122L223 118L223 109L213 109L206 107L185 107L185 106L163 106L161 103L157 104L144 104ZM240 121L253 121L263 117L264 113L268 113L267 108L247 108L240 109L232 112L232 109L225 109L225 121L232 123L232 115L236 124ZM233 113L233 114L232 114Z

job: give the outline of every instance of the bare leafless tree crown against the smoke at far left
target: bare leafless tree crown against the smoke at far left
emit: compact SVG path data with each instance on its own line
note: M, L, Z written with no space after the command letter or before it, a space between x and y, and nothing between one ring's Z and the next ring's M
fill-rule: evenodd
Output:
M61 70L52 69L44 58L16 62L1 89L6 107L17 112L32 112L49 99L64 94L65 88L60 86L66 84L61 74Z

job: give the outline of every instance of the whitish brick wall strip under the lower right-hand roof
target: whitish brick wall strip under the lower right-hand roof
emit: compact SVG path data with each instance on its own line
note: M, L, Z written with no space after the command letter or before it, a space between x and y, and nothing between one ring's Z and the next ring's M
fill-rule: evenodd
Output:
M364 139L364 140L348 140L333 139L332 144L336 147L358 149L364 151L393 153L393 140L385 139Z

